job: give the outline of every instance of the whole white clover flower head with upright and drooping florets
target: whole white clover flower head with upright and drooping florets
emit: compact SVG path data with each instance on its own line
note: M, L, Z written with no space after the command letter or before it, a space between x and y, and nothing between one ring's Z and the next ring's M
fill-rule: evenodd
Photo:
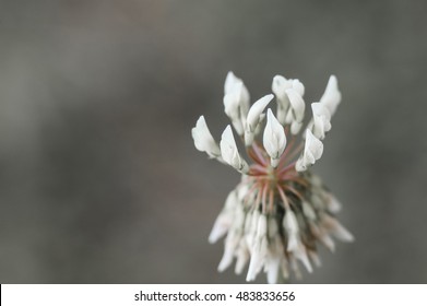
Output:
M226 235L218 270L227 269L236 258L238 274L249 262L247 281L253 281L261 271L269 283L287 280L290 272L299 279L299 263L309 272L312 264L320 266L319 243L333 251L331 236L353 240L335 219L341 204L309 172L323 153L322 141L341 103L336 78L330 76L320 101L311 104L312 118L305 129L305 86L299 80L274 76L274 95L250 105L244 82L228 72L224 92L225 114L252 163L240 155L232 126L225 128L220 144L203 116L191 131L199 151L242 174L209 237L215 243ZM265 110L274 97L275 115L271 108Z

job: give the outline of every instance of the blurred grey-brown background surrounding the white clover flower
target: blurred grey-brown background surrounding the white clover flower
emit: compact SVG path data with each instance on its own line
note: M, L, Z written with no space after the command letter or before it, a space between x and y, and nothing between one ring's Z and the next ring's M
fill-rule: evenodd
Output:
M315 166L356 237L305 283L427 282L427 2L0 2L0 282L235 283L211 226L239 175L228 70L343 103ZM253 101L253 99L252 99ZM264 282L260 275L259 282Z

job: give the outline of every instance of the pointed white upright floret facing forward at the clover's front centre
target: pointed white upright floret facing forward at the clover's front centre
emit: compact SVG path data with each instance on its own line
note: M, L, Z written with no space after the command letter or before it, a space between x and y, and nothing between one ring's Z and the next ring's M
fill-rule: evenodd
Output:
M286 136L282 125L274 117L270 108L266 110L263 144L266 153L272 160L273 167L276 166L286 146Z

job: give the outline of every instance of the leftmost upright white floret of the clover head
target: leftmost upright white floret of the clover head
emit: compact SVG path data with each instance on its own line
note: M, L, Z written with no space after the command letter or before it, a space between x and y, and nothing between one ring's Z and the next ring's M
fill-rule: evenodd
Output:
M191 129L194 146L201 152L206 152L211 157L220 157L220 146L213 139L203 116L200 116L195 127Z

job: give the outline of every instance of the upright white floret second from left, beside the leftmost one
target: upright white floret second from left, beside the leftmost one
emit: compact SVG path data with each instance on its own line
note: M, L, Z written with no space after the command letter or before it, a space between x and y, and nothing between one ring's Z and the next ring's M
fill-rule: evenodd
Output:
M240 156L235 138L233 136L232 127L228 125L221 137L221 154L223 160L232 167L240 173L249 170L248 163Z

